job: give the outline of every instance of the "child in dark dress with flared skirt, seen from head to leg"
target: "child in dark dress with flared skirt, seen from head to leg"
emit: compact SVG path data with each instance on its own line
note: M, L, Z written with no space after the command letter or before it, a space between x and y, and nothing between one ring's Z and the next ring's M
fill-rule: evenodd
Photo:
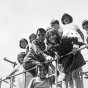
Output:
M57 52L61 57L58 59L61 65L61 73L64 75L62 88L67 88L69 73L73 73L79 67L85 65L82 54L77 51L78 39L76 37L60 37L55 30L47 32L46 39L49 55L55 57L55 52ZM72 54L66 56L69 52L72 52ZM73 74L73 76L75 76L72 77L73 80L76 81L77 75Z

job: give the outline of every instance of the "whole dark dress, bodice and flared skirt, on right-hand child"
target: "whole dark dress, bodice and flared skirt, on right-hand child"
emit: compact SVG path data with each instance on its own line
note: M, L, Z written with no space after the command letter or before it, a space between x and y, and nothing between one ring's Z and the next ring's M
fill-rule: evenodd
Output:
M75 55L70 54L66 56L66 54L72 51L74 44L80 45L77 38L63 37L57 46L52 45L52 47L48 49L49 54L53 57L55 56L54 52L58 52L60 56L63 56L59 59L59 63L62 64L65 73L72 72L73 70L85 65L84 58L80 51Z

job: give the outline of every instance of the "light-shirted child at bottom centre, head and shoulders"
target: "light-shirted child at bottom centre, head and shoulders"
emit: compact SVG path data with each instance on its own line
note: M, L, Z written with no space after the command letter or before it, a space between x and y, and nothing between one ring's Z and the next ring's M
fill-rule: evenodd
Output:
M47 77L48 74L48 65L46 63L42 63L37 65L37 77L34 77L28 88L52 88L52 84L55 82L55 76Z

